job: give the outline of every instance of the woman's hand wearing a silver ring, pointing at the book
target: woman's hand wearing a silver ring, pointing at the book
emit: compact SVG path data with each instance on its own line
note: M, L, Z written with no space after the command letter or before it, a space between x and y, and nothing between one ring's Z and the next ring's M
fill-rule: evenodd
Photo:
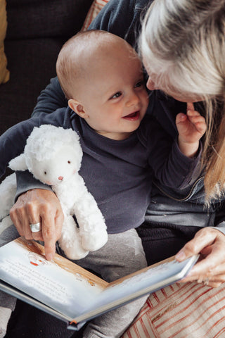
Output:
M63 211L56 195L44 189L25 192L11 208L10 216L20 236L44 242L46 259L51 261L63 226ZM31 232L30 224L34 223L41 223L39 232Z

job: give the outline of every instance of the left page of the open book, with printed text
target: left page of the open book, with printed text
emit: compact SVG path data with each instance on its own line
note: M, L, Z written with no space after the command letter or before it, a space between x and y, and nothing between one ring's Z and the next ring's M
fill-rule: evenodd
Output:
M0 278L68 318L75 318L108 283L59 255L54 261L46 261L43 252L43 246L23 237L2 246Z

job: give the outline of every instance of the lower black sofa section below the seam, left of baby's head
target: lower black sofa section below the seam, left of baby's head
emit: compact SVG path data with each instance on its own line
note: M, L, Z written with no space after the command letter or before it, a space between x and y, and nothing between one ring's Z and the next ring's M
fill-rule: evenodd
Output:
M56 58L62 44L62 38L5 42L11 79L0 87L0 134L30 118L37 96L56 76Z

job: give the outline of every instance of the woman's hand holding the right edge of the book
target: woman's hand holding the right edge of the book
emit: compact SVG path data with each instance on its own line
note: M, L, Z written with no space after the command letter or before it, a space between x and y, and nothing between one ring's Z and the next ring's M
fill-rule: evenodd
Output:
M219 287L225 282L225 235L219 230L205 227L199 230L176 254L177 261L200 253L200 259L181 282L197 280L209 287Z

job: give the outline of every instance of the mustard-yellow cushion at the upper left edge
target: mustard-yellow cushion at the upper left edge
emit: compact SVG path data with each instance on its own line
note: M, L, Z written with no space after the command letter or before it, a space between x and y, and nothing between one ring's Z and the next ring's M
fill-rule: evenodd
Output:
M9 72L6 69L7 59L4 53L4 39L6 37L6 0L0 0L0 84L9 79Z

